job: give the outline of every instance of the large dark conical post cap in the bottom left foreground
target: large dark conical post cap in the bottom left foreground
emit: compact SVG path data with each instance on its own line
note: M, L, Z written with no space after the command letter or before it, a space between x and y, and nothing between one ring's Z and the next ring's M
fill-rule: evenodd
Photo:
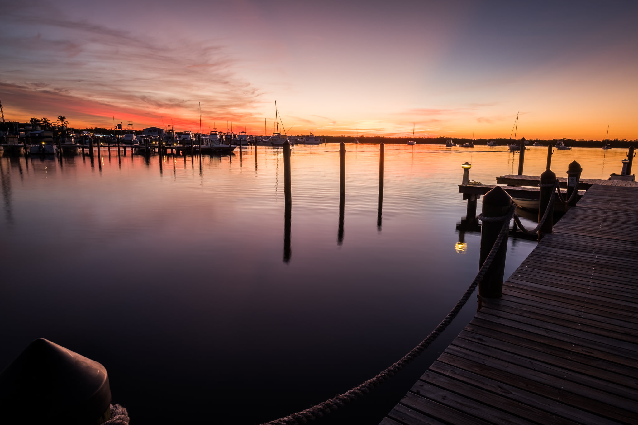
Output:
M110 417L110 402L104 366L44 338L0 373L7 423L100 424Z

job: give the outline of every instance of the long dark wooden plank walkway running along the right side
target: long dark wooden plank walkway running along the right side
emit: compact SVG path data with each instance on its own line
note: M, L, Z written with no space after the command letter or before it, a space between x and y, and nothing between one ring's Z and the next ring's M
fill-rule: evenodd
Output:
M638 424L637 232L592 185L381 424Z

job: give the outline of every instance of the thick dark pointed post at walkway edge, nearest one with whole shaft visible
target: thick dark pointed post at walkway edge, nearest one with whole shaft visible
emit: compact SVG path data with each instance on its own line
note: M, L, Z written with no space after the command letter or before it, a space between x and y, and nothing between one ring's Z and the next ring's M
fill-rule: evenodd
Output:
M487 255L494 246L503 228L503 220L491 221L493 217L503 217L508 215L512 208L512 197L509 196L500 186L494 187L483 197L482 217L483 221L480 231L480 263L485 262ZM479 284L479 296L483 298L501 298L503 293L503 273L505 273L505 256L507 255L507 235L503 239L496 256L492 261L489 270Z

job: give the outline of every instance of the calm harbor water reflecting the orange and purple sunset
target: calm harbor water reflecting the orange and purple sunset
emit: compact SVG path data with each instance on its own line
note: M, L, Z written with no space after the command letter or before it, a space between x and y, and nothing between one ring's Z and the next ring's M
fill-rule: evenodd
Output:
M34 338L104 364L136 424L257 424L373 377L447 314L478 268L479 234L456 224L460 165L493 184L505 148L387 145L377 227L378 145L347 145L343 241L339 146L292 153L290 261L283 152L145 162L2 157L0 368ZM526 174L546 148L526 152ZM558 151L565 176L619 172L624 150ZM161 166L160 166L161 165ZM480 211L480 203L479 203ZM509 275L535 247L508 245ZM377 424L470 321L472 300L409 368L322 423Z

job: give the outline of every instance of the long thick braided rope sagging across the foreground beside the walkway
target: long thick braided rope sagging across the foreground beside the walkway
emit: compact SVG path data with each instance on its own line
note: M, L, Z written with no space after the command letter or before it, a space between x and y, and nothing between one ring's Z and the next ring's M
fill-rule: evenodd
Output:
M366 382L358 385L357 387L354 387L350 391L346 391L346 393L339 394L338 396L335 396L331 398L330 400L323 401L323 403L319 403L318 405L315 405L306 410L302 410L301 412L297 412L295 414L282 417L281 419L276 419L275 421L264 422L261 425L306 424L309 421L313 421L314 419L317 419L318 417L323 417L323 415L329 414L330 412L332 412L332 410L336 410L339 407L343 407L346 403L348 403L348 401L356 400L360 396L366 393L369 393L371 389L373 389L374 387L377 387L378 385L388 380L390 377L395 375L399 370L403 369L413 359L419 356L419 354L421 354L423 350L427 349L427 347L429 347L429 345L434 340L436 340L436 338L439 335L441 335L441 333L445 330L445 328L447 328L447 326L452 322L452 320L454 320L454 317L456 317L456 315L461 311L461 308L463 308L463 306L468 301L468 299L470 299L472 292L474 292L479 282L485 276L485 273L489 269L489 266L491 266L492 261L494 257L496 256L496 252L501 247L501 243L503 243L503 239L505 238L505 235L507 234L507 231L509 230L510 220L512 220L512 216L514 215L515 210L516 210L516 206L512 205L512 208L510 208L510 211L507 213L507 215L503 215L502 217L489 217L489 221L503 221L503 227L501 227L501 231L498 234L498 237L496 238L496 240L494 241L494 245L492 246L492 249L489 251L489 254L487 254L487 257L483 265L481 266L479 273L474 278L474 280L472 281L468 289L465 291L461 299L459 299L456 305L454 305L454 308L452 308L452 310L450 310L447 316L445 316L445 319L443 319L438 324L438 326L434 328L434 330L430 333L430 335L428 335L426 339L424 339L422 342L419 343L419 345L417 345L412 350L410 350L408 354L401 357L401 359L397 361L396 363L392 364L392 366L390 366L386 370L376 375L376 377L367 380Z

